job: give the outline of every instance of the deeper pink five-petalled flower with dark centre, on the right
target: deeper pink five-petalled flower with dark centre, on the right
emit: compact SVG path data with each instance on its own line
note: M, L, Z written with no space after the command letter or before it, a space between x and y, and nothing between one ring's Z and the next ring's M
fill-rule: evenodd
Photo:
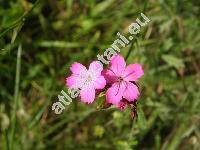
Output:
M111 87L106 92L108 103L122 107L122 99L134 102L140 95L138 87L134 84L144 74L140 64L130 64L126 67L124 58L114 56L110 61L110 67L103 71L103 75Z

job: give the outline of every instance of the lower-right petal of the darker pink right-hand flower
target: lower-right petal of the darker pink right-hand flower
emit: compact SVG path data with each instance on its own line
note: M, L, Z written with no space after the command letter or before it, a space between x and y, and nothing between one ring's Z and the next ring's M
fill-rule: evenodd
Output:
M139 95L138 87L131 82L126 82L126 89L124 90L123 98L131 102L135 101Z

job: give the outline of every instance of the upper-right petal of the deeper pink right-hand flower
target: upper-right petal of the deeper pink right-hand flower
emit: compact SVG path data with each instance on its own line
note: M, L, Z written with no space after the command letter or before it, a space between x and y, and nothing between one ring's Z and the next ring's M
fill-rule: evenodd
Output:
M136 81L144 75L144 71L140 64L128 65L123 73L125 81Z

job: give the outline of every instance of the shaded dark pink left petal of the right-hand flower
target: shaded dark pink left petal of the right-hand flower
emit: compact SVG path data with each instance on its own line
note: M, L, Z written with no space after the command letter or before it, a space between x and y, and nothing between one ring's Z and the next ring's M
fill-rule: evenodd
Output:
M117 81L118 77L109 69L105 69L102 71L102 75L106 79L107 84L112 84Z

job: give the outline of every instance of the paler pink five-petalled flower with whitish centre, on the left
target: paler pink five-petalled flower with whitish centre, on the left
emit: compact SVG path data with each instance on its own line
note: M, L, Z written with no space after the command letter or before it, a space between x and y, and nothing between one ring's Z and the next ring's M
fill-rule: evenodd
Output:
M92 103L95 99L95 89L103 89L106 85L106 80L101 75L103 67L97 61L93 61L87 70L85 66L75 62L70 70L72 75L66 78L66 85L69 88L80 89L82 102Z

